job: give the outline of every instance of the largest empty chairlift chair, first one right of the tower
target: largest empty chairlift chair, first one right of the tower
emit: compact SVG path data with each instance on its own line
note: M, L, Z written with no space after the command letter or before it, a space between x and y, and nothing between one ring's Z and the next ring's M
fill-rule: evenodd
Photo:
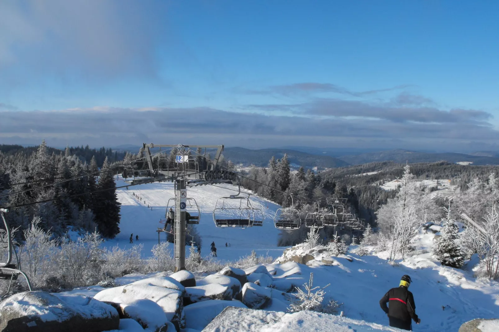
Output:
M237 206L235 202L238 200L239 207L235 207ZM261 226L263 212L251 206L250 195L248 197L239 195L219 197L213 209L213 221L215 226L220 228Z

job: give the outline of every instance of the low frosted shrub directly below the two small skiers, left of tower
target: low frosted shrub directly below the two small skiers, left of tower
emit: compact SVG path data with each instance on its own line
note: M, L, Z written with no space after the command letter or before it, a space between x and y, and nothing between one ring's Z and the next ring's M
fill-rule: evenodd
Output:
M143 244L134 245L130 249L121 249L117 245L111 250L104 250L104 267L102 273L105 276L116 278L129 273L143 272L145 262L142 259Z

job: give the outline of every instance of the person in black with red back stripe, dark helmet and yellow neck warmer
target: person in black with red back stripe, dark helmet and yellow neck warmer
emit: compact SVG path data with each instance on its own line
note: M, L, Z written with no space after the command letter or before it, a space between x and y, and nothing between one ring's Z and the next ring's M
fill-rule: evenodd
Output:
M391 327L412 331L411 318L416 324L421 323L421 320L416 315L414 297L408 290L410 284L411 277L404 275L400 280L400 286L389 290L379 301L379 305L388 316Z

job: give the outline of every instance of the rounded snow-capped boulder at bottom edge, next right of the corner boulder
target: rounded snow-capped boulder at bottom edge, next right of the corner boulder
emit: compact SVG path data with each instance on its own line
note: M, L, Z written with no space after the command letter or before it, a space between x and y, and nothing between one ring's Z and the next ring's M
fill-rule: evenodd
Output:
M120 304L126 318L137 321L144 329L151 332L166 330L168 318L163 309L151 300L141 299Z

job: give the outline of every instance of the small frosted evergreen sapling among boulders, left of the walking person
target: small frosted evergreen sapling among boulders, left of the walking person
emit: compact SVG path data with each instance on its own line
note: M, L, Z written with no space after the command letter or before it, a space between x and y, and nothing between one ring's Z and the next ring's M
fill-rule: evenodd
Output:
M313 273L310 273L310 279L308 284L303 284L304 290L297 288L297 294L295 294L296 299L289 306L288 311L291 313L296 313L302 310L316 311L326 314L336 314L338 313L338 308L341 304L334 300L329 300L324 303L324 289L330 284L320 288L319 286L313 287Z

